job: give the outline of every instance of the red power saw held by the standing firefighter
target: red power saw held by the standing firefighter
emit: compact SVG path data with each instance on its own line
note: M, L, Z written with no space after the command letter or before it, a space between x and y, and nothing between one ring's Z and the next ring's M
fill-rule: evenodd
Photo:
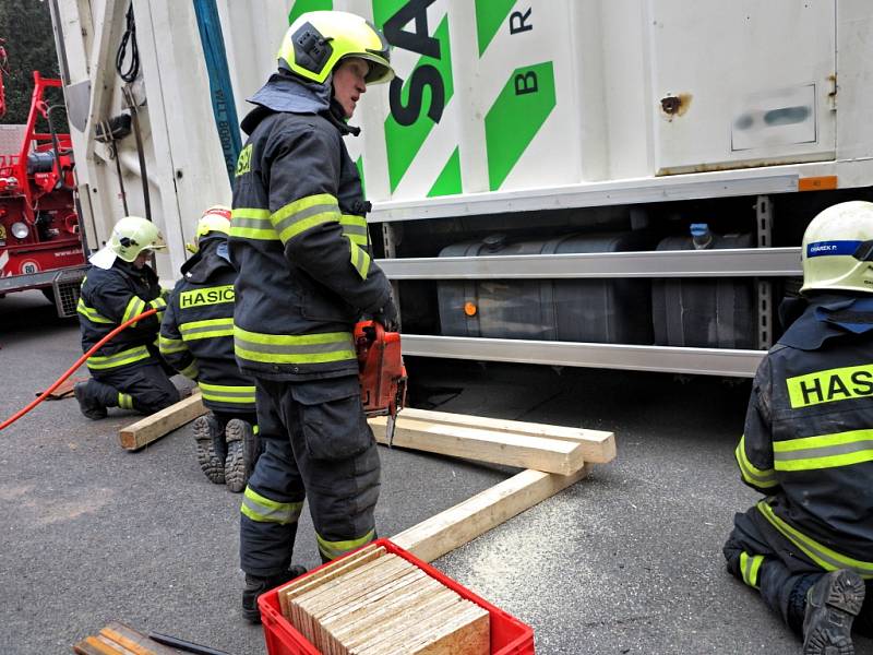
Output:
M403 365L399 332L385 332L376 321L355 325L355 349L361 402L367 416L387 415L388 448L394 442L397 413L406 404L406 367Z

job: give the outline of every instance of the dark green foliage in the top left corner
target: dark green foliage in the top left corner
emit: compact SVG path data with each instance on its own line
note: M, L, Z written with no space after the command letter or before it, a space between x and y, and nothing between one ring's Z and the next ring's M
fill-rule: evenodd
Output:
M0 0L0 38L5 40L9 58L9 75L3 75L7 115L0 122L23 123L31 109L33 71L45 78L59 76L48 2ZM49 104L63 102L60 92L55 91L46 99Z

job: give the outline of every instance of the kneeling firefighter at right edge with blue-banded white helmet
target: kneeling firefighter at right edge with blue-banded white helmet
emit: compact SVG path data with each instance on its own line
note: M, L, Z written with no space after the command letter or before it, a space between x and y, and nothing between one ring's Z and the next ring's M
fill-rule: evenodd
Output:
M736 515L725 557L804 655L847 655L852 627L873 636L873 203L820 213L802 258L800 317L757 370L736 451L767 498Z

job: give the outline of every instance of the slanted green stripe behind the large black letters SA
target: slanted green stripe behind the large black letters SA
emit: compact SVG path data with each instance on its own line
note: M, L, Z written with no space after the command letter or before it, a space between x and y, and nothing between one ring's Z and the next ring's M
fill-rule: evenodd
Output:
M419 66L430 64L439 72L445 85L445 106L452 99L455 90L452 84L452 56L449 46L449 16L443 16L436 32L433 33L433 38L440 41L440 59L432 57L421 57L416 63ZM403 85L402 98L403 104L409 102L409 80L412 73L406 79ZM435 124L427 115L427 108L430 107L431 93L428 86L422 94L421 115L419 119L411 126L400 126L394 117L388 116L385 119L385 144L388 152L388 179L391 181L391 191L397 188L400 179L409 169L412 160L416 158L418 151L424 144L424 140L430 134L430 131Z

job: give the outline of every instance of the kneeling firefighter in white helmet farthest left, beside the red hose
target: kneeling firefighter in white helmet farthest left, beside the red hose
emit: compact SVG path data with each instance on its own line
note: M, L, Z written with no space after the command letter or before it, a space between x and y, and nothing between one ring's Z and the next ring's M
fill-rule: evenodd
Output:
M121 323L148 309L158 310L122 330L87 359L91 379L79 382L74 393L82 414L91 419L105 418L107 407L154 414L179 401L157 347L166 302L157 275L145 263L152 251L165 247L151 222L125 216L112 228L109 243L89 259L76 308L83 352Z

